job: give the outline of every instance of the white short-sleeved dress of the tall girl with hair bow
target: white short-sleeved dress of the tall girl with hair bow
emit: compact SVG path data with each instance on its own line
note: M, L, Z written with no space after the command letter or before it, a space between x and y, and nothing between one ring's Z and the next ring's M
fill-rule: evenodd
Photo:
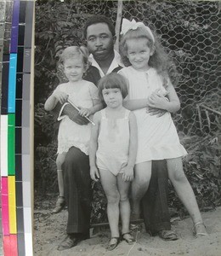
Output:
M166 93L156 69L146 72L132 66L122 68L118 73L128 80L128 100L148 99L156 89ZM161 117L150 115L146 108L133 111L138 124L138 154L136 164L149 160L164 160L187 154L180 144L178 133L170 113Z

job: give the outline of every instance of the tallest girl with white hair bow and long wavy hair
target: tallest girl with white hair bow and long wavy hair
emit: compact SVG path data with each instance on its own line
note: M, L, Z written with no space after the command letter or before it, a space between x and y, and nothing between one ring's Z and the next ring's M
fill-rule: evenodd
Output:
M128 80L124 107L133 111L138 124L138 154L132 183L133 218L139 218L139 203L148 189L151 160L167 160L168 176L179 199L190 212L196 236L207 235L190 183L184 175L182 157L187 154L179 143L171 113L180 102L167 73L167 56L148 26L122 20L121 55L125 66L118 73ZM148 107L166 110L158 117Z

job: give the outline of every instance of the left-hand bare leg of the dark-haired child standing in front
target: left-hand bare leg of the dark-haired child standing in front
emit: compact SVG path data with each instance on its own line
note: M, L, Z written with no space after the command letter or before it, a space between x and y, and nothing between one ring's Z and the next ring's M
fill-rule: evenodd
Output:
M119 234L119 202L120 194L117 189L117 179L111 172L99 169L100 181L107 198L107 217L111 229L111 237L120 237ZM111 243L116 243L111 239Z

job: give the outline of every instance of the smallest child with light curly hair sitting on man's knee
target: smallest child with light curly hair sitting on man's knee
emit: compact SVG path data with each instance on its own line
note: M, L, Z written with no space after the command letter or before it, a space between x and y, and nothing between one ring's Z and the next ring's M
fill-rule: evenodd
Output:
M102 104L99 100L98 88L93 83L82 79L83 73L88 68L88 49L84 46L67 47L61 54L59 62L68 82L58 85L53 94L48 97L44 108L51 111L58 102L64 104L71 100L80 108L79 113L85 117L89 117L101 109ZM54 213L59 212L65 205L62 173L65 155L72 146L80 148L83 153L88 154L91 133L91 123L77 125L66 115L59 118L59 120L58 156L56 159L59 197L53 210Z

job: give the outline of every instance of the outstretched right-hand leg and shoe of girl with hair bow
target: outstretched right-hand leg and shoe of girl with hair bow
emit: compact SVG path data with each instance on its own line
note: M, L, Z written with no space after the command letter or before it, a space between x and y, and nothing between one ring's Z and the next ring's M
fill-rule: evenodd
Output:
M202 222L201 212L195 200L193 189L184 174L182 159L173 158L167 160L167 170L169 179L178 194L178 198L183 202L184 207L186 207L187 211L190 213L193 223L198 224L195 226L195 232L205 233L206 229Z

